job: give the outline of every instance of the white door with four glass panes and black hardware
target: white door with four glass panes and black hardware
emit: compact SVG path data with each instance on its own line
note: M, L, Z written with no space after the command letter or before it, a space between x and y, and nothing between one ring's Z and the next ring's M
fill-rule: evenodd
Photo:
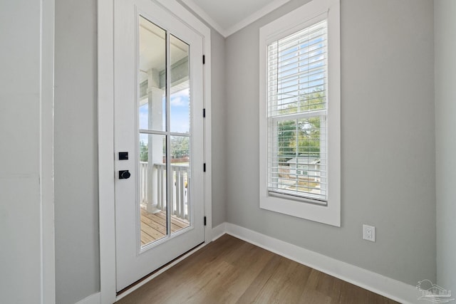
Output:
M204 242L202 37L114 1L117 290Z

